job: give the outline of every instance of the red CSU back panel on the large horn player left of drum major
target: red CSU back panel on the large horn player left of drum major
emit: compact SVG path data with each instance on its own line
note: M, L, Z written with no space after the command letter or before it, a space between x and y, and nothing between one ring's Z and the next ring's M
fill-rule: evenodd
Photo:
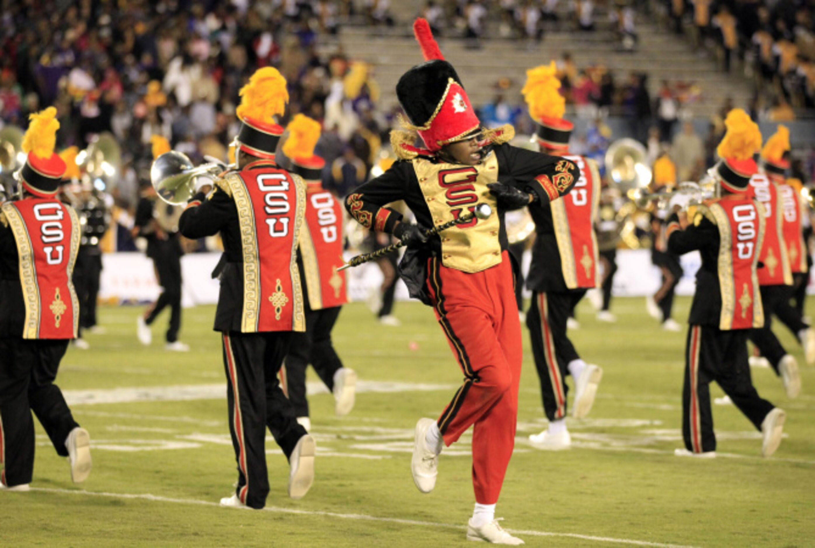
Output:
M306 184L273 164L256 164L224 177L238 210L244 255L240 331L305 331L297 242Z

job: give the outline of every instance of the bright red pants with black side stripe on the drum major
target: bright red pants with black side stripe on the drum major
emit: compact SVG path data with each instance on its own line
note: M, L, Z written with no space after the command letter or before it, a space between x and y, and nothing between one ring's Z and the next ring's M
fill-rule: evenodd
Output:
M495 504L515 445L522 342L509 254L467 274L430 260L428 285L436 318L465 375L438 419L445 445L473 426L475 500Z

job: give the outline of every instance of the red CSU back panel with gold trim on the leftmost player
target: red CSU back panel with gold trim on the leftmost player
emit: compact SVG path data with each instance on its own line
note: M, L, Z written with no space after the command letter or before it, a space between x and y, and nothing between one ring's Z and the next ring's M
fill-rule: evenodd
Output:
M71 276L80 226L73 208L55 199L26 198L2 204L20 256L25 301L24 339L73 339L79 303Z

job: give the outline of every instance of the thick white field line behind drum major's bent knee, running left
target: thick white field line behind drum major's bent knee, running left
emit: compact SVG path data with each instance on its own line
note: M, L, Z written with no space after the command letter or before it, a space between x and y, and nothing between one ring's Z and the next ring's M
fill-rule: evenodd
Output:
M324 384L306 385L309 394L328 392ZM387 380L360 380L356 392L434 392L452 390L455 384L402 383ZM64 390L68 406L91 406L104 403L133 403L136 401L194 401L222 400L227 397L227 384L179 384L176 386L149 386L136 388L107 388L91 390Z

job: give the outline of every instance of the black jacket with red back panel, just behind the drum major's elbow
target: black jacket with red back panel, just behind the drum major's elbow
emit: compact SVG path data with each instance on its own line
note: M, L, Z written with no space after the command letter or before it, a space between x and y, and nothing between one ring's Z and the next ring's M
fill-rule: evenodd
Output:
M575 186L548 208L530 209L537 235L526 285L535 292L597 287L600 279L594 231L600 205L600 173L594 160L563 157L579 169Z

